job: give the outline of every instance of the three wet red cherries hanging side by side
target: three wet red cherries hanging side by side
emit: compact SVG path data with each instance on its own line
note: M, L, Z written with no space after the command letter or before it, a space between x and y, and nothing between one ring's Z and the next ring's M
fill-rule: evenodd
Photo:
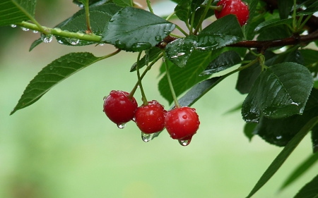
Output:
M179 140L183 146L190 143L200 124L196 110L189 106L165 111L158 101L153 100L138 107L136 99L123 91L113 90L104 98L104 112L119 128L133 120L143 135L166 128L172 139Z

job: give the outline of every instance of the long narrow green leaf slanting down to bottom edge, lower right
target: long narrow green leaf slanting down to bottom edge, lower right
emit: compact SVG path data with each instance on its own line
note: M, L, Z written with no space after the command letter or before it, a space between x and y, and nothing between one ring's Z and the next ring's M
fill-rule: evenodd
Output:
M266 169L266 171L261 175L261 178L259 178L259 181L254 186L251 192L249 192L249 195L247 198L252 197L255 192L257 192L264 184L266 184L267 181L278 171L278 169L283 165L285 160L290 156L290 154L293 152L293 150L298 146L298 144L301 142L301 140L307 135L307 132L309 132L314 125L318 123L318 116L312 118L306 125L293 137L290 142L286 145L286 147L283 148L281 153L276 156L276 159L273 160L269 168ZM318 185L317 185L318 187Z

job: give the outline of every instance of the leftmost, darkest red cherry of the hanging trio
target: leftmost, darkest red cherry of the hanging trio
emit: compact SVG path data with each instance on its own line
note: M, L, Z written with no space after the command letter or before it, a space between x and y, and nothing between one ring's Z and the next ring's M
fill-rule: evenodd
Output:
M130 99L128 95L127 92L112 90L110 95L104 98L104 112L119 128L123 128L124 123L134 118L138 107L136 99Z

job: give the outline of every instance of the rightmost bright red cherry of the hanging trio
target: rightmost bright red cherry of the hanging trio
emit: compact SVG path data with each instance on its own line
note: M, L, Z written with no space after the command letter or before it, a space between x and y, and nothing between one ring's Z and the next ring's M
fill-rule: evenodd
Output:
M191 140L200 125L196 110L188 106L172 109L165 116L165 128L172 139L179 141ZM183 144L186 146L187 144Z

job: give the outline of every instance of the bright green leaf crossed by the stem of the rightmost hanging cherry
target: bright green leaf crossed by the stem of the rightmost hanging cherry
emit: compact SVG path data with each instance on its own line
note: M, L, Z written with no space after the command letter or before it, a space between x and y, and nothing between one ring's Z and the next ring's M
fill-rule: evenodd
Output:
M194 51L189 60L187 61L187 66L184 68L179 68L174 64L170 63L170 76L172 80L172 85L175 88L175 94L179 96L185 92L190 87L196 85L196 83L201 82L208 76L199 76L199 74L206 68L206 65L211 61L211 51L210 52L199 52ZM170 87L167 82L167 75L164 75L159 82L160 94L167 99L171 104L173 99L170 92ZM181 104L183 105L183 104Z

